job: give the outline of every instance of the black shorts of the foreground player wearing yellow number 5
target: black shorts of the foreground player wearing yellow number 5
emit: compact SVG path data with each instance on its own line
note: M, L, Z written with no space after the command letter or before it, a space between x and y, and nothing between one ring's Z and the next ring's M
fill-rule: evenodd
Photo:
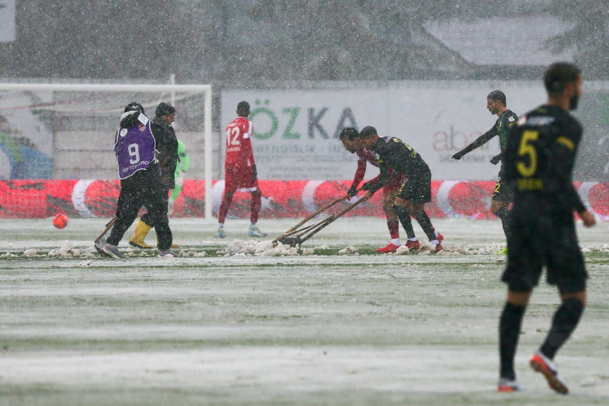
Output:
M586 290L588 273L577 244L573 214L553 202L518 198L507 240L507 268L501 278L513 292L530 292L547 268L547 283L562 295Z

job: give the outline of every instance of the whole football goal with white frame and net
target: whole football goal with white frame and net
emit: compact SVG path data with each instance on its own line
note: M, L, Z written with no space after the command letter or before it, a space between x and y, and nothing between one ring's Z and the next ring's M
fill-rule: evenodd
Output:
M43 184L59 187L60 180L65 180L74 196L55 196L54 191L46 190L48 205L67 205L69 208L58 207L58 211L74 211L72 214L84 217L110 215L111 210L104 211L103 206L112 208L113 201L96 199L86 190L79 192L79 188L86 189L85 185L97 180L108 181L108 187L116 189L114 133L125 105L132 101L141 103L150 119L159 103L174 105L174 128L189 158L185 177L204 180L197 184L205 185L191 211L211 218L211 85L0 83L0 180L5 180L6 189L0 191L0 206L21 206L27 213L37 201L27 191L40 190ZM24 189L23 193L15 192L15 188ZM111 195L108 199L114 200L116 193Z

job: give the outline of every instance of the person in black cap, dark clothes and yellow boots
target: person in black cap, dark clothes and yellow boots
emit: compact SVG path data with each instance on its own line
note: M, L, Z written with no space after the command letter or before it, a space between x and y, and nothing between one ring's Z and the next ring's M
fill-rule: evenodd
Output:
M155 110L156 117L150 121L150 131L155 139L156 159L160 163L161 175L159 178L158 187L164 190L159 191L158 197L161 199L160 204L164 206L164 211L169 214L169 189L175 188L175 172L177 171L180 155L178 154L178 139L175 137L175 130L171 123L175 120L175 108L165 102L161 102ZM133 237L129 240L129 245L138 248L152 248L144 242L152 227L156 228L155 217L147 212L142 216ZM157 233L158 237L158 233ZM178 248L177 244L171 245L171 248Z

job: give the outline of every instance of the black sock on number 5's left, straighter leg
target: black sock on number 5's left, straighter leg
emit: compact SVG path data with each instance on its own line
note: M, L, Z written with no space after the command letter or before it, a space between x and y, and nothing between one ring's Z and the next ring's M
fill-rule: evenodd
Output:
M501 360L502 378L509 380L516 379L514 372L514 355L518 346L518 335L520 326L523 323L525 307L516 306L512 303L505 303L501 318L499 318L499 359Z

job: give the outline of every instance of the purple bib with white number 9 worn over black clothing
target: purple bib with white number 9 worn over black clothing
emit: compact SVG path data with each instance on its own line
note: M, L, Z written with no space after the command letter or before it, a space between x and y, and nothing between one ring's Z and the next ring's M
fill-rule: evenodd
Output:
M150 120L139 114L141 124L119 128L114 153L118 161L118 176L125 179L148 167L155 159L155 139L150 131Z

